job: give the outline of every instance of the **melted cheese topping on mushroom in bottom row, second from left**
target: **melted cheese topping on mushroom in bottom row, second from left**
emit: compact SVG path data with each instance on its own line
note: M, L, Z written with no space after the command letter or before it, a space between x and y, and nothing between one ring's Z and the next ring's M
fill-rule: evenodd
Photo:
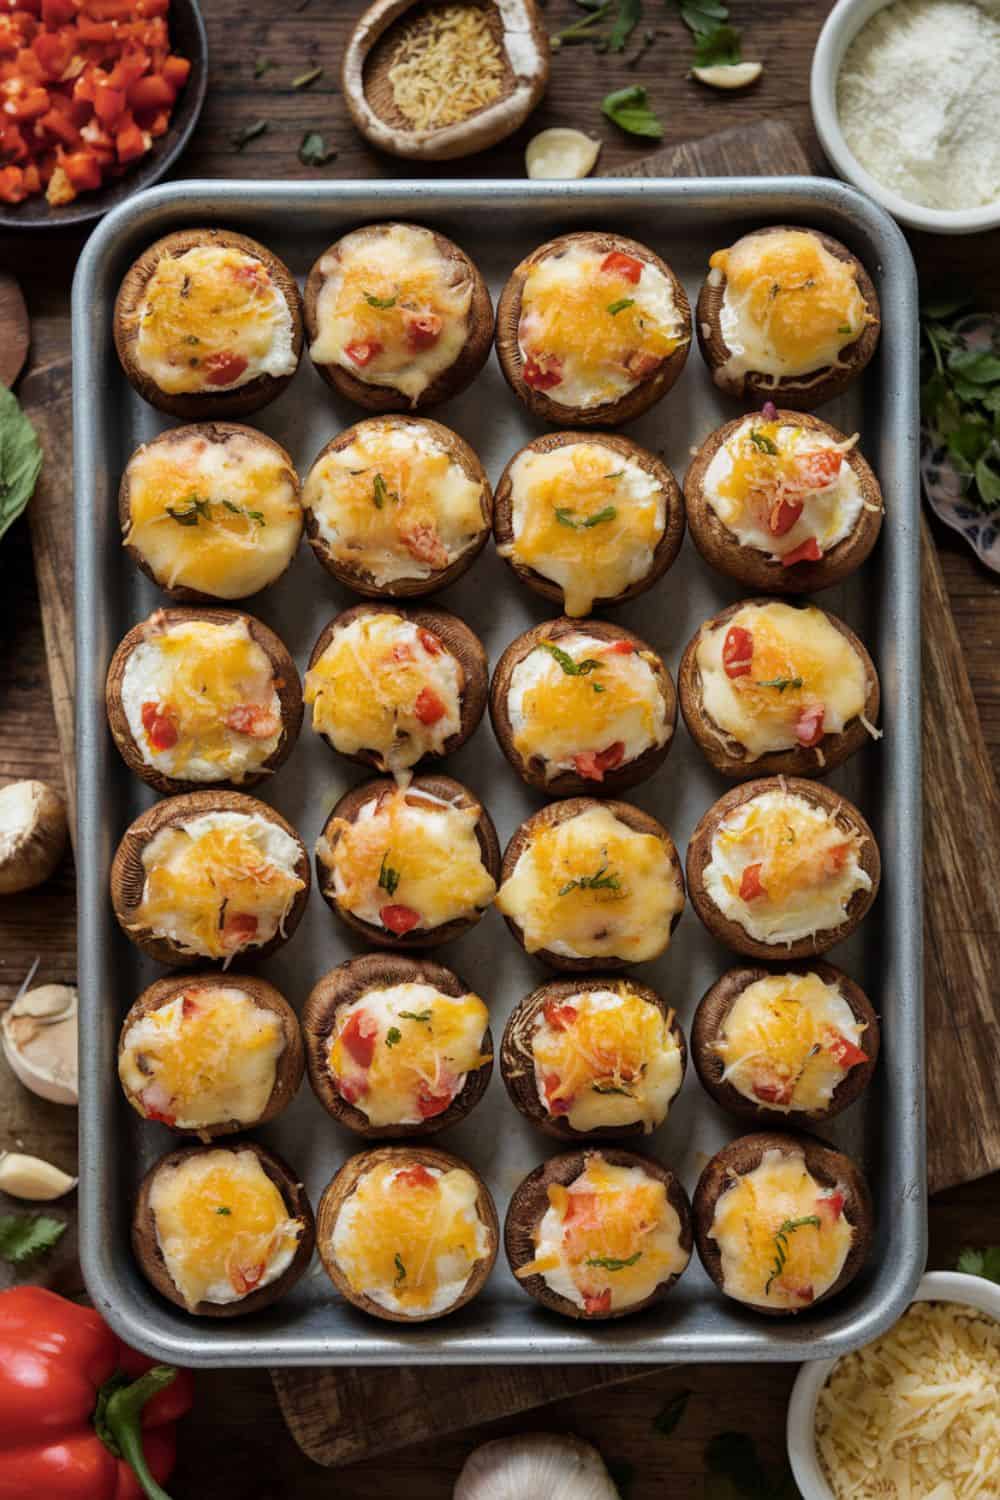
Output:
M447 1312L489 1252L477 1198L475 1179L457 1167L382 1162L366 1172L331 1238L351 1290L406 1317Z

